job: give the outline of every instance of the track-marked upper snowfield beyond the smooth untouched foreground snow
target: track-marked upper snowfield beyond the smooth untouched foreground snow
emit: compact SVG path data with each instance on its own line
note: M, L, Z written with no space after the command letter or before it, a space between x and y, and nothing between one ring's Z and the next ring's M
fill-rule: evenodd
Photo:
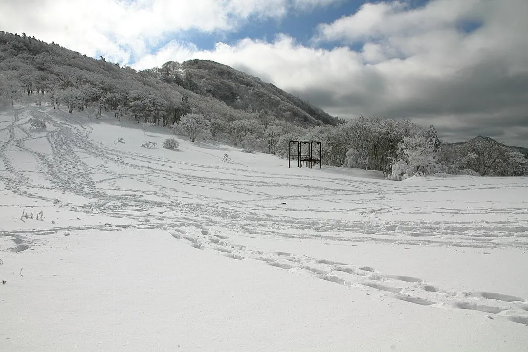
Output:
M47 127L32 129L34 118ZM527 178L392 182L364 170L287 168L216 142L166 150L162 129L126 126L30 104L2 110L0 260L59 234L156 231L374 299L528 325ZM147 140L158 147L142 148ZM464 272L487 263L497 272Z

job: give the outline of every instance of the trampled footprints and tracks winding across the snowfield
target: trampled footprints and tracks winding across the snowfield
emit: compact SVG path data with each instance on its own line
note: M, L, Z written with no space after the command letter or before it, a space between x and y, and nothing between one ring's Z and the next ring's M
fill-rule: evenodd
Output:
M243 165L235 168L232 165L206 166L112 148L90 139L93 121L87 122L61 111L54 113L49 109L26 107L15 108L9 114L12 121L0 129L7 136L0 146L3 166L0 182L8 191L70 211L105 214L136 223L55 226L46 230L0 229L1 236L12 239L13 246L8 250L27 250L45 235L65 231L163 228L168 235L197 250L214 250L239 261L262 261L273 267L270 270L310 275L314 279L389 295L416 305L475 310L488 313L491 318L528 325L528 303L522 297L496 292L452 291L429 284L425 279L380 273L373 267L251 249L232 243L221 231L230 229L276 239L526 250L528 203L502 208L494 206L493 199L489 199L489 207L481 208L473 206L469 200L453 203L460 207L452 208L431 205L431 210L420 206L402 210L398 207L399 199L409 195L427 197L431 192L467 190L478 193L496 188L497 184L422 187L362 179L354 179L351 183L349 178L336 176L325 183L326 187L316 187L310 184L321 176L292 179L288 175L256 174ZM48 128L31 130L28 121L33 117L44 118ZM47 150L32 147L35 140L45 140ZM16 155L20 153L35 160L39 175L17 164ZM121 182L124 179L138 187L121 186L125 184ZM500 186L513 192L526 187L525 181L505 182ZM285 190L288 194L284 194ZM50 194L71 194L83 201L79 204L63 202ZM287 204L283 205L285 198ZM317 201L312 202L312 199ZM318 206L320 202L325 205ZM277 207L284 211L277 213ZM307 212L310 218L306 217ZM427 215L439 215L435 213L444 216L442 221L434 220L435 216L427 220ZM450 214L458 217L464 214L468 220L450 221ZM425 216L426 220L398 221L387 217L412 215ZM502 216L503 220L489 218L490 215Z

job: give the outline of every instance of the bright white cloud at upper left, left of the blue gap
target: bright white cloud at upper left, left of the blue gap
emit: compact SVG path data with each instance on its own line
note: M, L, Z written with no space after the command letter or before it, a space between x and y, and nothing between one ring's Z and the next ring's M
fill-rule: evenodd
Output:
M161 40L187 30L235 31L253 18L342 0L2 0L2 30L128 64Z

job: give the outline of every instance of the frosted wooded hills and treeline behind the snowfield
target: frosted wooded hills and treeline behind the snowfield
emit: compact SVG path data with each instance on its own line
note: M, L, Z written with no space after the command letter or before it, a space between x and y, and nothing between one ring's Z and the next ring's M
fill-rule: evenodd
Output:
M130 119L172 128L191 141L229 142L279 157L288 156L290 140L320 140L323 164L381 170L393 179L528 174L519 149L491 138L442 145L433 126L424 129L406 119L360 116L340 121L216 62L169 61L136 72L25 34L0 32L0 103L10 106L22 97L87 118Z

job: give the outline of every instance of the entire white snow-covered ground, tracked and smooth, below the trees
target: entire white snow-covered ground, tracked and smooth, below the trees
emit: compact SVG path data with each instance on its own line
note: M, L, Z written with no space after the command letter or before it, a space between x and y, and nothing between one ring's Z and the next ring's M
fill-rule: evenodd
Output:
M3 109L2 351L528 346L527 178L398 183Z

